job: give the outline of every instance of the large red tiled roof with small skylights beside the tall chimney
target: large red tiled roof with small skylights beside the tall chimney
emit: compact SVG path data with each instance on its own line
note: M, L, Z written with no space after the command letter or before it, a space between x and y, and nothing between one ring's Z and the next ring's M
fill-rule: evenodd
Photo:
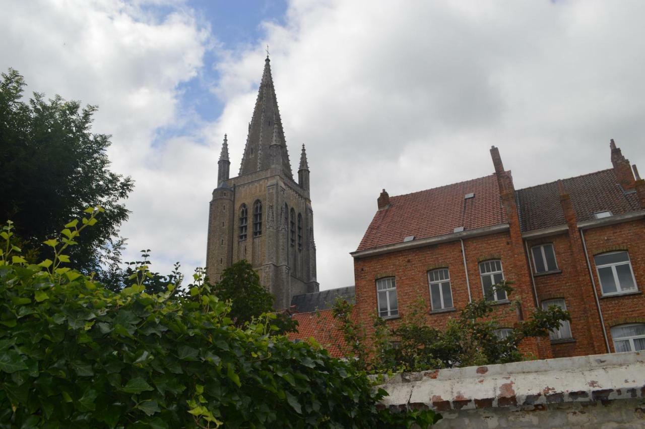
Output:
M474 198L464 199L473 192ZM507 223L495 174L452 185L390 197L390 207L379 210L357 251L452 234L463 226L473 230Z

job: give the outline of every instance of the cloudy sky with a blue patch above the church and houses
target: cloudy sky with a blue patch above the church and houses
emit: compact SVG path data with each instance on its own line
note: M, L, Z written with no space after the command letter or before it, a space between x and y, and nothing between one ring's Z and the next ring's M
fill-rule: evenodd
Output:
M642 1L0 0L0 70L98 105L131 175L126 260L204 264L224 133L237 174L269 45L293 168L307 147L322 289L390 195L493 172L516 188L645 170Z

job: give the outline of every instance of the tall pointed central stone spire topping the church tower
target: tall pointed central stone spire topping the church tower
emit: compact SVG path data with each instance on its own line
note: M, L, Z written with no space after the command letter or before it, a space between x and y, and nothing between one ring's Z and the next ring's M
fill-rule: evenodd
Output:
M267 55L239 174L249 174L272 166L281 168L285 177L293 178Z

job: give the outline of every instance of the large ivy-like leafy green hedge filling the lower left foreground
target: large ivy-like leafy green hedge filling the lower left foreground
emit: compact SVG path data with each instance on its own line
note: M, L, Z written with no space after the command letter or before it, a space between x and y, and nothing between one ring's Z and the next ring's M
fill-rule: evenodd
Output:
M306 343L272 336L271 316L237 328L228 303L194 275L144 292L146 264L118 293L64 266L88 210L52 259L28 263L0 232L0 427L375 428L426 426L431 411L377 410L384 391ZM171 299L173 298L173 299Z

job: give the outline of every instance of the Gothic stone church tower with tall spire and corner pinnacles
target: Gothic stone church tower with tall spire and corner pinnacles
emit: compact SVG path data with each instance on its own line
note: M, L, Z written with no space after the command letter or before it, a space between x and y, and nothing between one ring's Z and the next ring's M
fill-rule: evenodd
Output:
M208 217L208 277L215 283L225 268L246 259L278 310L288 308L293 295L318 292L307 155L303 145L296 183L268 56L239 175L229 177L229 167L224 135Z

